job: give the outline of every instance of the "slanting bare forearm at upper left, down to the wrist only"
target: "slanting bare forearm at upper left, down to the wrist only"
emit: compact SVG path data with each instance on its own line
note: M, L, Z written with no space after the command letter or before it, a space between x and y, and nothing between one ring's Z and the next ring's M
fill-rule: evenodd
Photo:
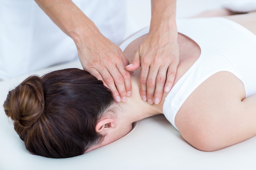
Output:
M92 34L99 33L95 24L72 2L72 0L35 0L51 20L76 45Z

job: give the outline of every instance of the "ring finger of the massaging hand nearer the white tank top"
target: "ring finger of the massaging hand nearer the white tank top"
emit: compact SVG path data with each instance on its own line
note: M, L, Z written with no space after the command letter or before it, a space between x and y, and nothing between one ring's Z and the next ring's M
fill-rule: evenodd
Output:
M164 84L166 82L166 68L159 68L157 77L156 77L156 86L155 86L155 94L154 94L154 103L159 104L161 102L163 92L164 92Z

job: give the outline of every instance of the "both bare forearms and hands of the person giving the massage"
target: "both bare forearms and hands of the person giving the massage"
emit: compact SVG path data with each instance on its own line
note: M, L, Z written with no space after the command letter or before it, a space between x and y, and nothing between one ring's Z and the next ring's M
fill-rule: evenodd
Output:
M151 1L150 33L139 46L131 65L121 49L104 37L72 0L35 1L74 40L83 68L103 80L116 102L126 102L131 95L130 73L139 66L142 68L140 93L144 101L159 103L164 88L169 91L173 86L179 63L176 0Z

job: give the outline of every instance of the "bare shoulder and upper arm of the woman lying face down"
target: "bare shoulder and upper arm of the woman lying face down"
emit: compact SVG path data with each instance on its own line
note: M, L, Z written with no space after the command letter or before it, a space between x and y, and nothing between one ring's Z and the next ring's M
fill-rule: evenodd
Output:
M245 98L240 79L218 72L186 99L175 125L189 144L202 151L238 144L256 135L256 95Z

